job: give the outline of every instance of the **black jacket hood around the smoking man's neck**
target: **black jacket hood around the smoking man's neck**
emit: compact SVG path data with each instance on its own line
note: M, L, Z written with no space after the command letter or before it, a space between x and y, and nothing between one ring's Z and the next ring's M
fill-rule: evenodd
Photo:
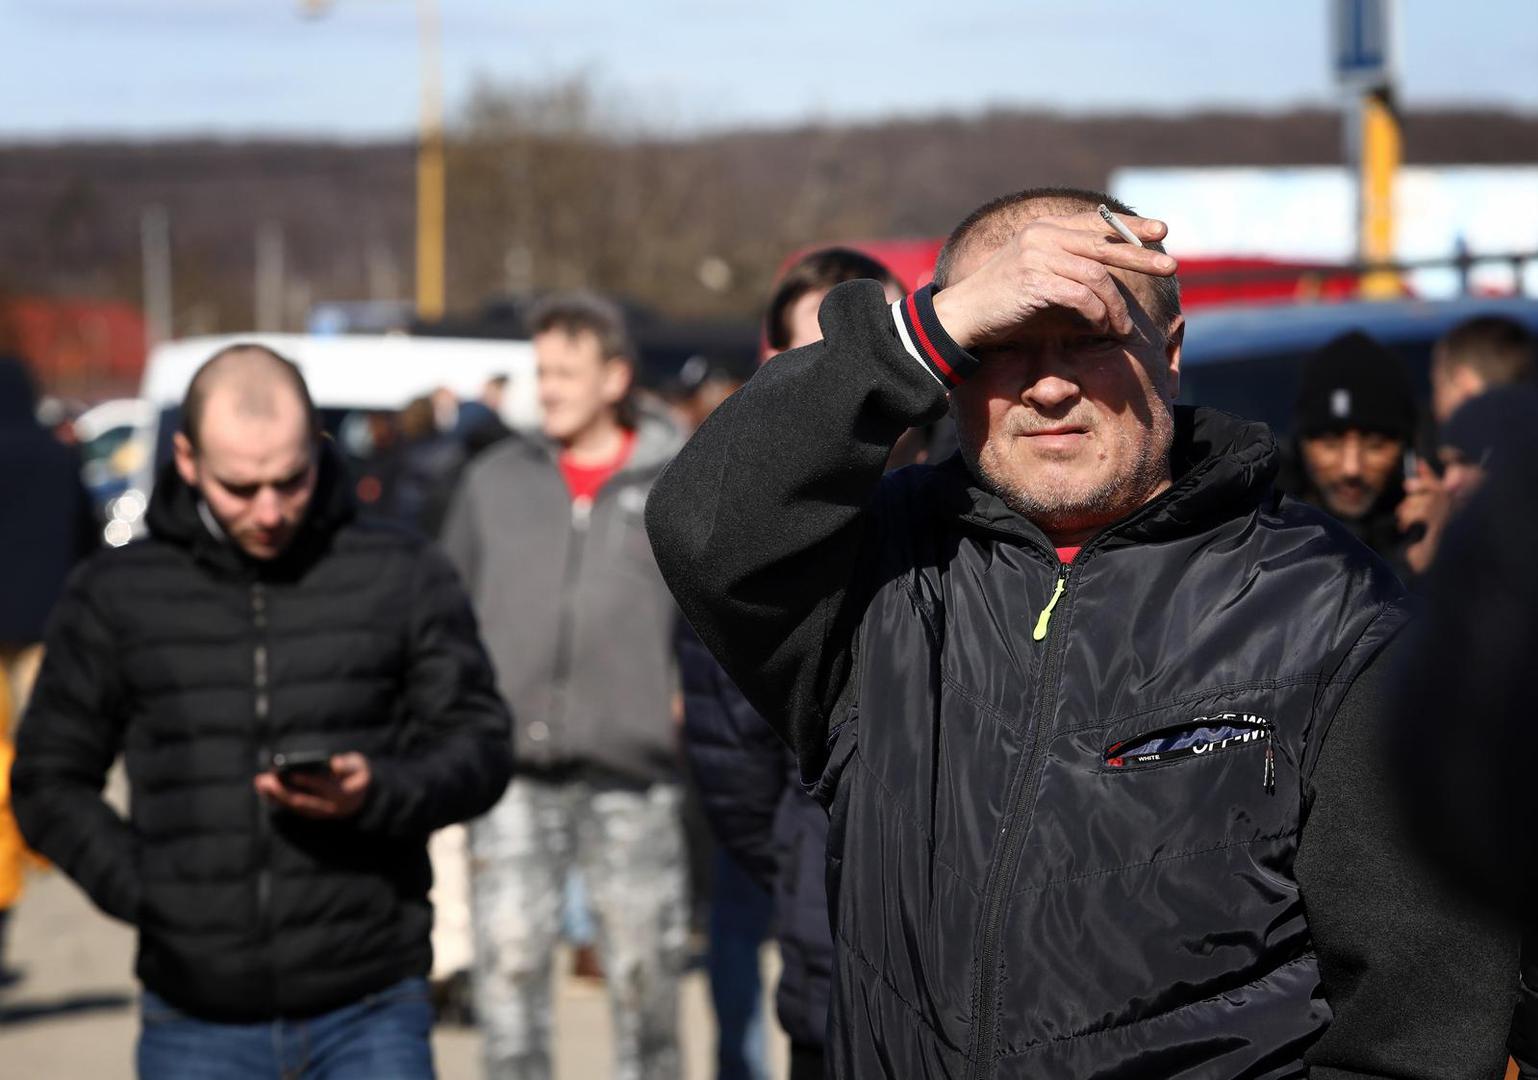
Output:
M1177 405L1169 457L1169 489L1097 532L1090 543L1118 548L1200 532L1260 505L1277 478L1277 440L1270 428L1218 409ZM949 512L984 529L1052 549L1040 526L984 488L961 454L946 460L935 474L944 475L943 483L949 488L943 495Z

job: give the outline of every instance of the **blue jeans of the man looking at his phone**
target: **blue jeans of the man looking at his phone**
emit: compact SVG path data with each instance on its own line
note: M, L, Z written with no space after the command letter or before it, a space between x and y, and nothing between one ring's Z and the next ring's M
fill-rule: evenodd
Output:
M432 1080L428 983L308 1020L212 1023L145 991L140 1080Z

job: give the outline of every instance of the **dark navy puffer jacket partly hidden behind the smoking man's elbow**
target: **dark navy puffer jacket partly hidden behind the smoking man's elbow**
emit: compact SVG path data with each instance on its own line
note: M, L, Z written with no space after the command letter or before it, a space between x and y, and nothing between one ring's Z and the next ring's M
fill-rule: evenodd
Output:
M834 969L823 882L827 811L801 788L795 755L687 626L678 634L678 674L684 751L711 829L774 897L780 1026L798 1046L821 1046Z

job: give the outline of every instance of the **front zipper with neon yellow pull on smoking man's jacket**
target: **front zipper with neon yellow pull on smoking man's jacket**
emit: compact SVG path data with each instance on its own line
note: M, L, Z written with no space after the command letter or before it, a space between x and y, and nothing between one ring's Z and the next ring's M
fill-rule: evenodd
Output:
M1037 762L1041 757L1041 745L1046 737L1054 703L1057 702L1060 668L1066 638L1063 634L1050 635L1052 612L1058 602L1069 591L1072 566L1058 566L1057 586L1052 598L1037 617L1037 625L1030 634L1035 642L1047 643L1046 662L1041 668L1041 680L1037 694L1037 708L1032 711L1030 757L1020 763L1021 777L1015 786L1015 795L1009 800L1004 812L1004 825L998 838L1000 854L994 860L994 872L989 875L987 894L983 902L983 948L977 957L977 1022L972 1026L972 1069L974 1080L983 1080L994 1072L994 1028L998 1023L998 938L1004 923L1004 900L1009 883L1014 880L1012 869L1020 862L1020 848L1026 840L1026 828L1020 825L1024 808L1032 805L1037 791ZM1069 597L1067 603L1072 603Z

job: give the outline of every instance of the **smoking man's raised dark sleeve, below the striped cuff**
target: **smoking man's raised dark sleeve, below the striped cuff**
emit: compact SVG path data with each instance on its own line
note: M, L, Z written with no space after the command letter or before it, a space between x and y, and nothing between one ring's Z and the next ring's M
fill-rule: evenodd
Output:
M875 282L835 288L820 320L823 342L771 360L704 422L646 511L684 615L807 778L849 680L887 452L947 400Z

